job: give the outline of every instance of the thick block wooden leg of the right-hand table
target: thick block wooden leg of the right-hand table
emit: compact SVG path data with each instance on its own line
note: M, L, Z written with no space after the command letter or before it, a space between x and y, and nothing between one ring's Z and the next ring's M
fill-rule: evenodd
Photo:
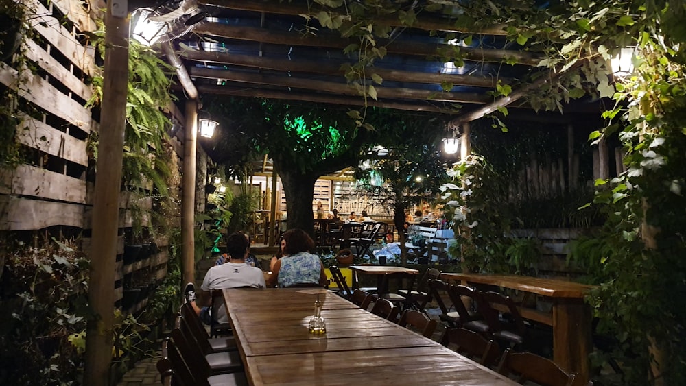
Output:
M555 298L553 305L553 360L563 370L589 381L591 307L583 299Z

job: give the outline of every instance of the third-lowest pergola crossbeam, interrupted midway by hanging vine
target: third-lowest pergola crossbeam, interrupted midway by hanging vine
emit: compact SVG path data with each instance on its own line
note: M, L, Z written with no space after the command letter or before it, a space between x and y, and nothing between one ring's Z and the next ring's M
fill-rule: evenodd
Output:
M226 52L208 52L208 51L192 51L181 50L177 54L182 58L188 60L196 60L199 62L211 62L221 64L233 64L236 66L255 67L257 69L270 69L276 71L292 71L298 73L316 73L324 75L344 75L341 69L341 64L327 64L321 61L311 60L289 60L289 59L274 59L250 55L241 55L237 53ZM512 84L513 79L504 77L482 77L478 75L460 75L449 73L424 73L420 71L401 71L392 69L383 69L381 67L369 67L366 70L366 78L370 79L372 75L379 75L384 81L392 80L397 82L412 82L412 83L434 83L441 84L442 82L452 83L456 86L475 86L475 87L490 87L495 88L498 80L503 84Z

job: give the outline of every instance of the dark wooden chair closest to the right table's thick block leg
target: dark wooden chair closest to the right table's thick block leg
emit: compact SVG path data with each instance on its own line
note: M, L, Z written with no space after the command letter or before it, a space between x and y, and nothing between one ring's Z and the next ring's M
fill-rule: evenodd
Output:
M525 344L526 326L517 304L509 296L497 292L484 292L482 298L484 306L491 309L484 313L488 333L497 341L502 341L508 346L518 346L521 350ZM502 317L499 313L502 313Z

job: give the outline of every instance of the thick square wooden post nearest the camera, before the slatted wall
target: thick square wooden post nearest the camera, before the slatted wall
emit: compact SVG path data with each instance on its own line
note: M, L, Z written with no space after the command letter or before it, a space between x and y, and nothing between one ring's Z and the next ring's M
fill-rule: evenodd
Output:
M86 327L84 385L108 385L112 364L115 261L128 93L129 36L128 14L125 17L113 16L113 3L115 1L108 2L105 15L104 84L88 280L88 303L94 317L88 321Z

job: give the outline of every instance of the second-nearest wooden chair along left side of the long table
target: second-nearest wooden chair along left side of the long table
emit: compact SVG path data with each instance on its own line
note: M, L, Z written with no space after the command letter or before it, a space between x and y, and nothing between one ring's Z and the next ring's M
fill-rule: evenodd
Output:
M237 351L213 352L204 354L196 341L189 336L187 327L181 317L176 318L171 340L185 358L189 369L200 372L202 376L211 376L229 372L243 371L243 363Z

